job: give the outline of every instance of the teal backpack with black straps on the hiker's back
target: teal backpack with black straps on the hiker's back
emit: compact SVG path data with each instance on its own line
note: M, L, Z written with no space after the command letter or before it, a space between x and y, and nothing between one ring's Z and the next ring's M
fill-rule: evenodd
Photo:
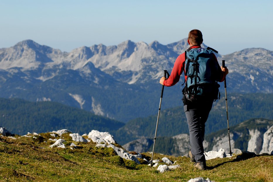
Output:
M219 87L216 82L218 63L214 59L212 48L192 48L185 51L185 88L183 103L196 103L199 100L220 98ZM219 95L219 96L218 96Z

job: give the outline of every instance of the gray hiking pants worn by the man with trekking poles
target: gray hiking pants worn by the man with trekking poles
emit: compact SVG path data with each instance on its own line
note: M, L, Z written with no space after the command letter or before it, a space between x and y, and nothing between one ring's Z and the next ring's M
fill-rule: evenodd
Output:
M205 161L203 141L205 122L209 117L213 101L204 101L194 105L184 105L187 123L190 131L191 153L196 162Z

